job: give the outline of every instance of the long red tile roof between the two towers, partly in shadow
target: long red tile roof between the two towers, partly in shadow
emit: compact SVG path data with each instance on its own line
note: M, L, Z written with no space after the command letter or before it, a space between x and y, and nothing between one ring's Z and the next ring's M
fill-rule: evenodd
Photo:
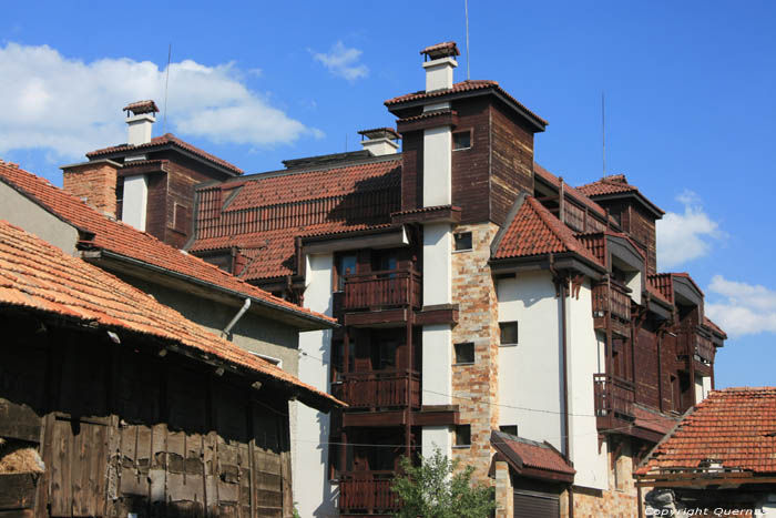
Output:
M296 237L389 223L400 205L400 170L399 156L200 187L197 238L190 250L238 246L251 258L241 277L292 275Z

